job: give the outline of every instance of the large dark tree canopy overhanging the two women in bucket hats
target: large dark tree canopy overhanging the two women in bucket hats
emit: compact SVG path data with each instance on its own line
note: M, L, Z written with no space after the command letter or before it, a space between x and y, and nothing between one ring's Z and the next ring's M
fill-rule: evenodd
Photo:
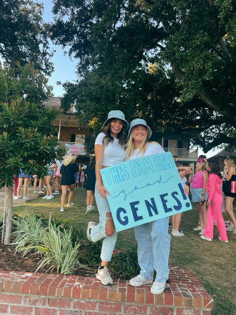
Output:
M62 105L91 135L121 109L204 151L235 144L235 1L53 2L52 39L79 59Z

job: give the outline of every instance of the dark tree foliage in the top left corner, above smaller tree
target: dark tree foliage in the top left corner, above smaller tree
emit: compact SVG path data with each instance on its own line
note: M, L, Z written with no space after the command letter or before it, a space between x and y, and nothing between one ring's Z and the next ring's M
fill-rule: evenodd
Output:
M15 67L34 62L36 69L49 75L53 71L49 47L49 24L43 22L43 5L33 0L0 1L0 56Z

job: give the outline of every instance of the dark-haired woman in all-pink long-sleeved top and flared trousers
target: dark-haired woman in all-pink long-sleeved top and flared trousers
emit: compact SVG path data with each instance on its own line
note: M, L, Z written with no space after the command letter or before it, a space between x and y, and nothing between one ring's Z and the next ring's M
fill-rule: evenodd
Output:
M220 167L217 161L211 160L206 165L209 171L209 177L207 180L208 190L208 210L207 210L207 224L204 228L204 235L201 238L206 241L212 241L213 239L213 225L216 221L217 229L220 233L219 240L228 243L228 237L226 232L226 226L222 215L222 175L220 173Z

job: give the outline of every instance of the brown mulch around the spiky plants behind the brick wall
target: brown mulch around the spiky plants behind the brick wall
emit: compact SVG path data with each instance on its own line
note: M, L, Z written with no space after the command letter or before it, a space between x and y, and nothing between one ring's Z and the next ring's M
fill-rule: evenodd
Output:
M11 245L2 245L0 244L0 271L24 271L34 273L38 267L38 262L40 261L40 257L37 255L29 255L22 259L22 255L19 253L14 253L14 247ZM38 272L40 273L49 273L47 272L49 268L45 266L41 268ZM50 272L52 274L56 274L56 271ZM88 272L86 270L76 269L75 275L79 276L94 276L94 270Z

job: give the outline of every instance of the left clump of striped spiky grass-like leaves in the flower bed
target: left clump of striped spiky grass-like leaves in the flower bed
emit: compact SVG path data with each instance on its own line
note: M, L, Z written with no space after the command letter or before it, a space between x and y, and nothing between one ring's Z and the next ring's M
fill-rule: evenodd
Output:
M23 257L32 251L32 248L37 251L33 246L42 244L47 229L42 220L33 213L26 212L23 218L12 218L12 223L14 225L14 231L11 234L14 238L12 243L15 246L14 251L22 252Z

